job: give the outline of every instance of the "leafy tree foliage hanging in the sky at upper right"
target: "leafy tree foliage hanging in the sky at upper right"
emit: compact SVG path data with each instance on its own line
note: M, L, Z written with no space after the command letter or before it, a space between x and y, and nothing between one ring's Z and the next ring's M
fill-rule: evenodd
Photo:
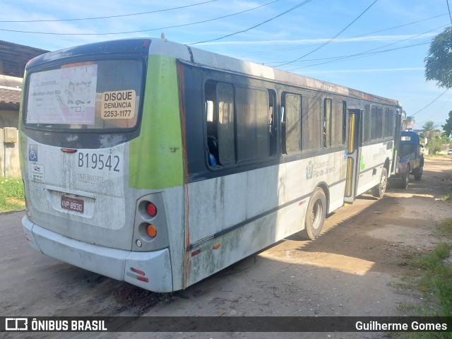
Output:
M452 88L452 27L433 38L424 64L427 80L436 81L440 88Z

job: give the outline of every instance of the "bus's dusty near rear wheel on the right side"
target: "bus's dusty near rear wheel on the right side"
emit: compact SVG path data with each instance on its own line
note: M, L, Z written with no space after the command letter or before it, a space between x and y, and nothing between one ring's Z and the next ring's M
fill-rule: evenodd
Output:
M317 187L309 199L304 230L298 232L302 239L314 240L322 232L326 217L326 197L323 189Z

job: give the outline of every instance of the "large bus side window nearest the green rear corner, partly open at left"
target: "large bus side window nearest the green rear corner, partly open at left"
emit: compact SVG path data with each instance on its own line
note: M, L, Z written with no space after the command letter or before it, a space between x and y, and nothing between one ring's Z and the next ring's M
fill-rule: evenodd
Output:
M207 81L206 144L210 166L261 160L275 154L275 92Z

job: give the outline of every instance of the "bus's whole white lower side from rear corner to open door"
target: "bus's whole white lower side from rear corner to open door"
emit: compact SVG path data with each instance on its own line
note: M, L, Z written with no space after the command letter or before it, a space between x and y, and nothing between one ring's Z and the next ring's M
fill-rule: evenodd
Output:
M343 206L346 165L341 150L189 184L190 283L302 230L317 186Z

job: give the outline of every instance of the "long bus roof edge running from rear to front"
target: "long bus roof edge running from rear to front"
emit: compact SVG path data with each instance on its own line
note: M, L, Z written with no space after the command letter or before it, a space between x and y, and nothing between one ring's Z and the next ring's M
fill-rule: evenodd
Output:
M148 42L150 42L150 44ZM309 88L312 90L319 90L328 93L336 93L339 95L346 95L349 97L355 97L357 99L369 100L371 102L380 102L396 107L401 106L398 100L392 100L386 97L380 97L378 95L371 95L360 90L354 90L345 86L316 80L314 78L282 71L280 69L273 69L268 66L255 64L253 62L227 57L225 55L216 54L213 52L207 52L203 49L194 48L186 44L179 44L177 42L170 42L168 40L162 40L160 38L132 38L124 40L110 40L107 42L95 42L93 44L70 47L67 49L61 49L56 52L42 54L40 57L32 59L32 61L28 63L27 67L29 67L30 64L35 66L47 61L54 61L67 57L75 57L77 55L108 54L118 52L143 53L146 51L146 49L148 49L149 54L174 57L188 64L245 74L257 78L265 78L270 81L288 83L290 85L295 85L303 88Z

